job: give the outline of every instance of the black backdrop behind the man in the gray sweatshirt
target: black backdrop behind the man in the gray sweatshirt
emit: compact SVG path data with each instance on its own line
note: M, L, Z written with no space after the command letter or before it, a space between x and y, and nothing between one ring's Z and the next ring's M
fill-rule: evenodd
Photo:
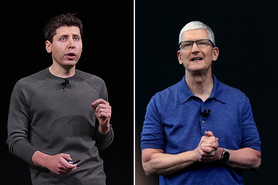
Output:
M57 14L68 12L76 13L84 27L83 51L76 68L105 81L112 106L114 141L100 151L107 185L133 183L133 2L57 0L1 2L3 185L31 184L27 163L13 157L6 146L11 92L19 79L52 64L45 50L44 25Z

